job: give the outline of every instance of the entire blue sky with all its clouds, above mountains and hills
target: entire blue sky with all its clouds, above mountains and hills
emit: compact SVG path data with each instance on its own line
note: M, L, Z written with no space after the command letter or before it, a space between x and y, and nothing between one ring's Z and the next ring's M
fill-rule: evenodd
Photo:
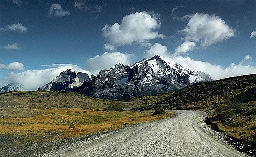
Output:
M256 73L255 31L255 1L4 0L0 87L34 90L67 68L97 74L156 54L214 79Z

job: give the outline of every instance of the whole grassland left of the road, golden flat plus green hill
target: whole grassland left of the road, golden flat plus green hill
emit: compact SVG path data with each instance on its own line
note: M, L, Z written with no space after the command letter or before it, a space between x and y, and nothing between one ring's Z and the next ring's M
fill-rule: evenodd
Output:
M174 115L106 112L102 107L108 106L110 101L73 92L8 92L0 94L0 103L0 139L5 140L0 140L2 148L78 137Z

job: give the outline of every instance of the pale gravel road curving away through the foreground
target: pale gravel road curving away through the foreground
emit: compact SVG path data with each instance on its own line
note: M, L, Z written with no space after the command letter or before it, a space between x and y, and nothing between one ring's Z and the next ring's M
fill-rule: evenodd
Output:
M203 122L202 111L142 123L39 156L247 156L234 150Z

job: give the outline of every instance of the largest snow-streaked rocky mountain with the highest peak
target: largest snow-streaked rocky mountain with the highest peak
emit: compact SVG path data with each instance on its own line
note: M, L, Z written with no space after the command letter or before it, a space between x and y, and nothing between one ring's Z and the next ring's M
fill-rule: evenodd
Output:
M180 64L170 65L159 56L134 65L117 64L84 82L75 92L103 99L126 99L178 91L190 84L208 82Z

